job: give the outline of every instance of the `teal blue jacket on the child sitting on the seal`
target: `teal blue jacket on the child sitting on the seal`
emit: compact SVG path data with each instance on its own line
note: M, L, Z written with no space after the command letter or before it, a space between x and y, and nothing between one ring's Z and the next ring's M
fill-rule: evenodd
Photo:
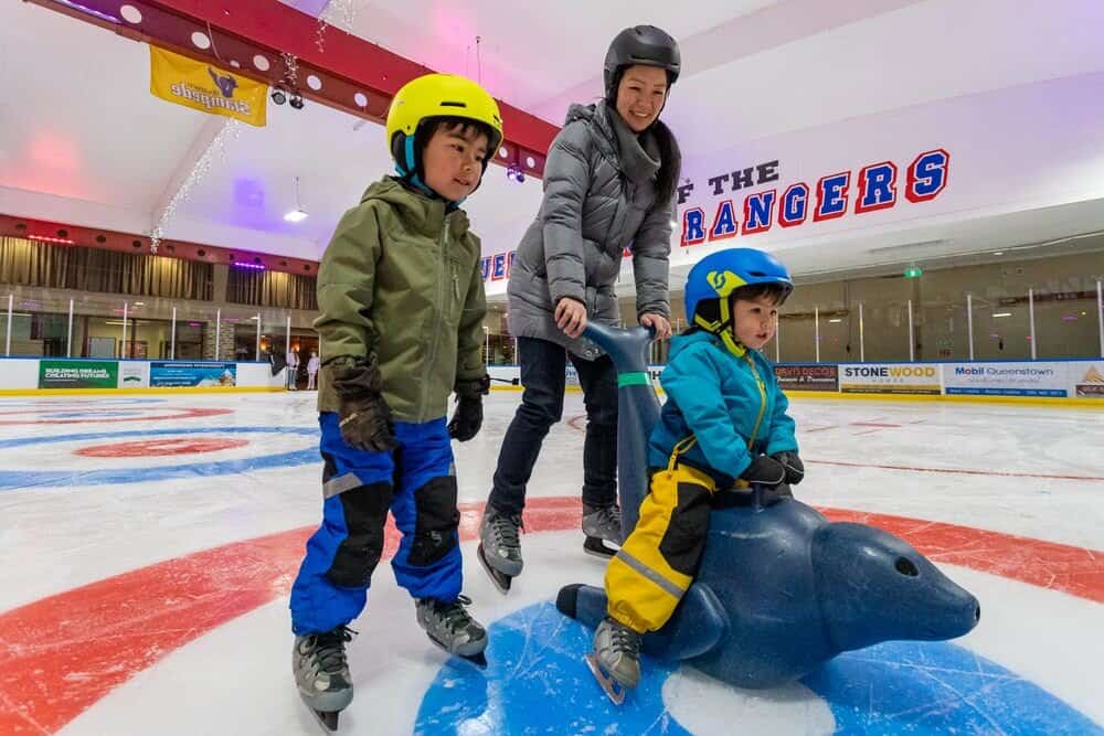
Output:
M753 457L797 451L789 401L757 350L736 358L708 332L679 335L659 383L667 403L648 442L651 467L667 467L690 435L698 441L681 459L722 483L739 478Z

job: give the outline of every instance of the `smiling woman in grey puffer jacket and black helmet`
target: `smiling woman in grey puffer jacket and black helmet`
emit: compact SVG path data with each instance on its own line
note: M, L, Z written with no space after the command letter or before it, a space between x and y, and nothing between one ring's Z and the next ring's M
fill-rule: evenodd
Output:
M614 287L633 253L636 310L670 337L667 290L673 194L681 156L659 121L681 71L678 43L651 25L625 29L606 54L606 98L573 105L549 150L544 199L510 269L510 332L518 338L521 406L507 430L480 526L479 559L500 590L521 573L518 529L541 444L563 414L566 361L586 404L583 532L588 552L619 544L617 372L580 335L587 319L619 323Z

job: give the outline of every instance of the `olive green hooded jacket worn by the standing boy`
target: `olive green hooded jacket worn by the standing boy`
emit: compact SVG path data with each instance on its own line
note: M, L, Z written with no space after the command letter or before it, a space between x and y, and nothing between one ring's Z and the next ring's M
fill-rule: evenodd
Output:
M332 370L372 354L396 419L445 416L453 390L487 372L479 259L463 210L390 177L369 186L318 268L318 410L338 410Z

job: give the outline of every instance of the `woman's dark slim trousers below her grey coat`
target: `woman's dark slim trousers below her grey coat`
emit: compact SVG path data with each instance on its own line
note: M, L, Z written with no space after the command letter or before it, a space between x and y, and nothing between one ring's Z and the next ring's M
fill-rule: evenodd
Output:
M586 405L583 444L583 502L608 506L617 502L617 370L607 355L587 361L546 340L518 338L521 406L506 431L488 503L500 513L520 514L526 487L541 444L563 417L567 360L578 373Z

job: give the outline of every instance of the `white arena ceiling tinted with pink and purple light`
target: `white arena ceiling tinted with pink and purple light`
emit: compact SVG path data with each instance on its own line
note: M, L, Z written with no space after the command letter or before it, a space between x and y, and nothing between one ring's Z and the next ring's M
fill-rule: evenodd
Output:
M1104 3L1087 0L699 0L693 12L648 0L280 1L415 62L479 77L556 125L570 103L601 96L605 47L618 30L660 25L683 50L687 71L665 120L688 161L741 141L1104 71ZM0 212L137 233L160 222L166 237L318 258L341 213L390 169L374 124L309 103L269 106L265 128L229 124L150 96L148 70L144 44L30 3L0 3ZM489 170L466 205L485 253L517 245L540 196L539 181ZM284 222L297 205L310 216ZM783 254L811 278L1098 230L1104 207L1084 203L836 236L830 256L808 238ZM675 260L672 284L687 268Z

